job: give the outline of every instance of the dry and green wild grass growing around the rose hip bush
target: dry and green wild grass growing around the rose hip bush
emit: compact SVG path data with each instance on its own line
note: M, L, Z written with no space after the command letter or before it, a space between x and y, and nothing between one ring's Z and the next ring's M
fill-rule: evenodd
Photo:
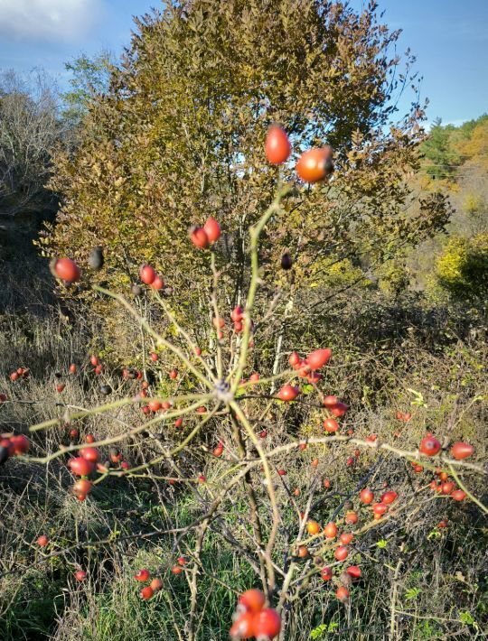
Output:
M0 365L5 378L0 391L9 397L0 408L2 432L25 432L28 425L53 414L62 418L63 404L99 404L102 382L115 390L112 397L137 389L136 383L121 387L116 369L106 370L100 378L89 373L83 365L89 353L86 328L68 326L54 317L27 321L5 316L2 323ZM363 351L361 367L354 348L338 348L343 350L343 364L331 367L326 386L339 394L347 390L352 419L345 426L352 427L360 438L376 432L380 439L394 441L400 448L411 447L427 429L448 433L451 440L473 442L477 460L486 460L481 398L485 381L480 367L485 363L483 344L463 343L436 353L410 347L403 346L394 356L390 352L383 361L373 357L372 350ZM79 375L65 376L71 362L82 366ZM31 376L13 385L8 374L21 364L30 368ZM66 379L62 395L55 391L54 374L58 371ZM161 385L166 384L163 381ZM33 400L36 402L31 403ZM245 403L250 416L261 411L258 401ZM400 426L394 413L407 408L413 418ZM97 438L114 435L140 421L140 410L128 406L103 417L87 417L76 426L82 440L87 433ZM323 435L319 414L299 405L274 410L267 416L267 425L269 447L286 442L290 435ZM43 456L60 443L69 443L70 427L61 421L36 434L35 454ZM187 433L185 429L190 428L183 428L183 433ZM225 418L211 423L178 460L183 475L191 478L204 473L207 486L168 485L157 478L174 474L163 464L154 469L153 477L108 478L83 503L70 496L72 479L63 458L48 466L8 460L0 468L0 638L186 639L195 537L189 534L180 541L177 534L160 532L190 525L218 491L227 465L225 457L209 460L205 455L206 449L214 447L217 435L226 441L231 438ZM166 425L158 438L172 442L181 436ZM122 451L134 466L153 457L156 446L157 439L138 438L125 442ZM288 546L297 533L296 509L288 491L300 489L295 500L303 509L316 481L314 518L321 523L333 519L343 527L347 503L337 510L344 500L352 500L352 507L359 510L360 525L370 518L366 508L358 504L354 490L371 469L368 484L375 493L380 494L386 484L405 501L432 478L428 472L413 474L406 462L389 456L379 459L374 452L361 452L349 469L344 460L352 451L348 445L310 446L298 455L287 454L274 461L277 468L286 469L286 477L276 478L282 516L274 555L278 567L286 563ZM319 458L317 468L310 466L314 457ZM322 487L324 477L332 479L328 491ZM270 526L267 495L259 475L253 478L266 538ZM485 500L483 483L472 475L466 483ZM317 577L296 592L286 606L286 639L483 638L488 620L483 543L486 521L472 503L453 505L445 497L418 496L417 505L408 507L404 516L358 537L348 562L359 562L363 576L352 586L349 604L344 606L335 599L332 582ZM436 524L444 517L449 519L449 527L442 531ZM43 553L33 542L39 534L50 537L47 553L59 553L47 562L38 563ZM252 549L252 537L249 498L236 487L203 539L197 574L198 638L202 641L227 639L238 594L258 585L246 556L234 544ZM170 568L181 554L189 564L183 574L174 576ZM331 561L324 558L324 563ZM310 560L298 562L299 567L310 564ZM163 590L147 602L139 598L140 585L133 579L141 567L164 581ZM89 572L88 580L82 583L73 578L79 568Z

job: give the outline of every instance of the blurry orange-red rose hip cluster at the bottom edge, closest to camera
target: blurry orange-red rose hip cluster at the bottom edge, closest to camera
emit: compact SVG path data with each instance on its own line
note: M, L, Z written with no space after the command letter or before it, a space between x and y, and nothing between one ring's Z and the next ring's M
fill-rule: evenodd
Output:
M276 609L265 608L266 598L261 590L247 590L240 595L230 627L233 641L256 637L258 641L274 639L281 630L281 618Z

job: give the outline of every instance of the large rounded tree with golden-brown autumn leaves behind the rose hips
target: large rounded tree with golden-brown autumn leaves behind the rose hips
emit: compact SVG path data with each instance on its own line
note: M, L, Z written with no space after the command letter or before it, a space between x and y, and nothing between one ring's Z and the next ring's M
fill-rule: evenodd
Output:
M42 238L47 255L83 261L102 244L100 279L111 286L153 261L192 297L211 267L202 256L196 276L190 269L186 230L211 214L224 231L217 267L228 265L228 295L239 300L249 282L243 229L278 180L296 177L293 163L281 172L265 163L273 121L296 153L331 144L336 173L318 187L298 184L286 200L263 246L265 271L277 274L287 250L296 281L316 288L337 261L381 264L443 228L444 198L418 199L409 187L423 112L416 103L392 120L412 58L402 64L390 52L399 33L378 23L375 3L357 14L341 2L195 0L136 24L108 92L90 104L78 153L57 159L52 185L63 207ZM280 275L275 285L293 290Z

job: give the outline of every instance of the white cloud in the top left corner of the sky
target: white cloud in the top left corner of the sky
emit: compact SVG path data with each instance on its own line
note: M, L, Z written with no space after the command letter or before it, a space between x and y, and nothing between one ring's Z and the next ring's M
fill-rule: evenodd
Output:
M103 0L0 0L0 36L72 42L98 22Z

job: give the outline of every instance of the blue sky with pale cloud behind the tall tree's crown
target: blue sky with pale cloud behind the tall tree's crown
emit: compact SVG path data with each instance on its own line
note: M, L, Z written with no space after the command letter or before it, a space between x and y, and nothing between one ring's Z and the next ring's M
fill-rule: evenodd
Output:
M219 1L219 0L216 0ZM221 0L225 2L225 0ZM488 111L488 0L379 0L403 29L399 51L417 54L427 111L459 124ZM362 0L352 0L361 7ZM132 16L161 0L0 0L0 69L43 67L66 85L63 63L81 52L119 53ZM402 111L409 96L403 98Z

